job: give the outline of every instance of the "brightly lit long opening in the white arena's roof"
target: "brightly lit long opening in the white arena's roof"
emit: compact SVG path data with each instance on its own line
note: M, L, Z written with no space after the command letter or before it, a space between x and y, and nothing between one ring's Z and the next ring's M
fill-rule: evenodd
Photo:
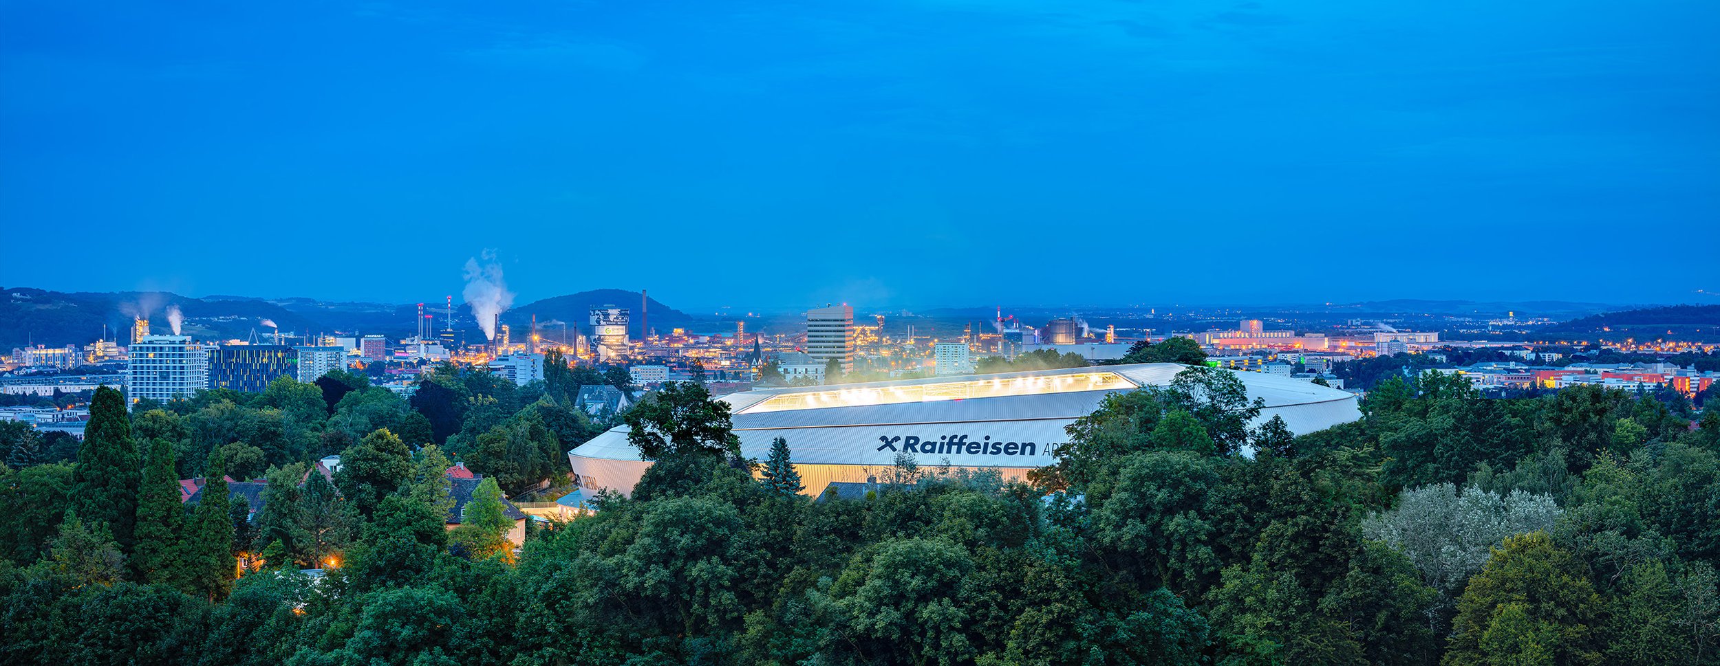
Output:
M789 412L822 407L900 405L967 398L1003 398L1011 395L1115 391L1137 388L1116 372L1073 372L1025 378L946 381L936 384L855 386L829 391L783 393L736 414Z

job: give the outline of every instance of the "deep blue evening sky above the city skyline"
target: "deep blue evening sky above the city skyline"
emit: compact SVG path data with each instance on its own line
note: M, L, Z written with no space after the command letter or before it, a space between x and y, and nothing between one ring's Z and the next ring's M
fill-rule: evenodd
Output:
M521 300L1717 302L1717 27L1662 0L5 0L0 283L413 302L494 249Z

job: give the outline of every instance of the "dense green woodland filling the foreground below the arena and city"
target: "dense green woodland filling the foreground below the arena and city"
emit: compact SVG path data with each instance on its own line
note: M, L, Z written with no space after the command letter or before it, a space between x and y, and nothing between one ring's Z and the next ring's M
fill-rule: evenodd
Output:
M131 417L103 391L76 462L9 441L0 663L1720 663L1720 414L1670 395L1390 378L1290 436L1190 369L1108 398L1032 486L903 457L814 499L793 441L736 460L690 384L623 415L657 458L631 498L514 549L499 493L604 426L568 402L602 374L442 369L409 403L329 379ZM485 479L452 530L451 460ZM224 475L267 479L260 515Z

